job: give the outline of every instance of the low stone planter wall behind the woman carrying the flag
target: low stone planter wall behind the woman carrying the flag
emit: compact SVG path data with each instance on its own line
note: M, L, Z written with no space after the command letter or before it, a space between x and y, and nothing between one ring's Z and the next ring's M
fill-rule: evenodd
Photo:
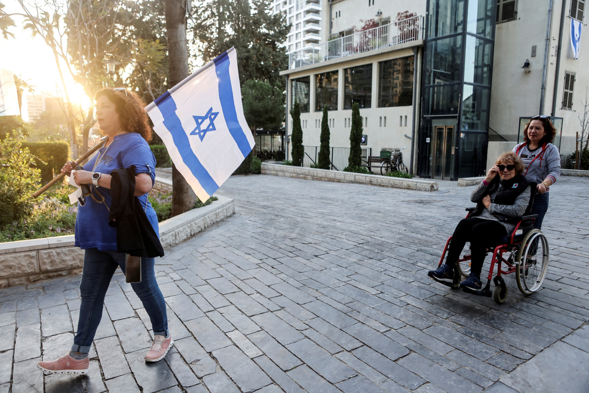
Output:
M208 206L190 210L160 223L164 249L217 223L235 212L233 199L217 196ZM0 288L82 272L84 250L74 247L74 235L0 243Z

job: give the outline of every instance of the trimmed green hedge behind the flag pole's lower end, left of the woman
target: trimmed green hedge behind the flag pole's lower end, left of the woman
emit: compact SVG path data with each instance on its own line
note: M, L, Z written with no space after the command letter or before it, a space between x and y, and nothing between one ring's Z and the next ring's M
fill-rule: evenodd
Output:
M65 161L70 160L70 145L65 142L23 142L22 147L37 158L35 164L41 170L43 184L57 176Z

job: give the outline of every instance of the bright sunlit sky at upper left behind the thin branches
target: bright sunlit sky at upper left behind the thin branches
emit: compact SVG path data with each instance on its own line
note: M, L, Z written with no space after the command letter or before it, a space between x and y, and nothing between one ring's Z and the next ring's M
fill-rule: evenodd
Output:
M4 1L4 4L6 13L22 13L21 6L16 0ZM0 35L0 68L12 71L22 80L34 85L35 94L47 93L54 97L58 94L63 95L53 52L41 37L32 38L30 31L22 29L21 17L15 16L13 19L16 27L10 28L9 31L15 38L4 39ZM82 107L88 108L90 100L82 86L74 82L65 66L62 70L72 103L81 103Z

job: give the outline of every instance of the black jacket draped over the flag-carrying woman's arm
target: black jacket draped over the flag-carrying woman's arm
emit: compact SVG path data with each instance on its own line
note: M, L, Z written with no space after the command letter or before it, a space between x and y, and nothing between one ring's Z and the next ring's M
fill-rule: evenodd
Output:
M111 172L112 203L108 224L117 228L117 251L133 256L164 256L147 214L135 193L135 166Z

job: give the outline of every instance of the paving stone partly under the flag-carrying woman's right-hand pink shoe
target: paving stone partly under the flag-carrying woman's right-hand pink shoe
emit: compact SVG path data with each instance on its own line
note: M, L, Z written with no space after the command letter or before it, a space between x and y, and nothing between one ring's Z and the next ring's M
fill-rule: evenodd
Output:
M145 351L125 354L143 393L153 393L178 384L166 362L145 362Z

